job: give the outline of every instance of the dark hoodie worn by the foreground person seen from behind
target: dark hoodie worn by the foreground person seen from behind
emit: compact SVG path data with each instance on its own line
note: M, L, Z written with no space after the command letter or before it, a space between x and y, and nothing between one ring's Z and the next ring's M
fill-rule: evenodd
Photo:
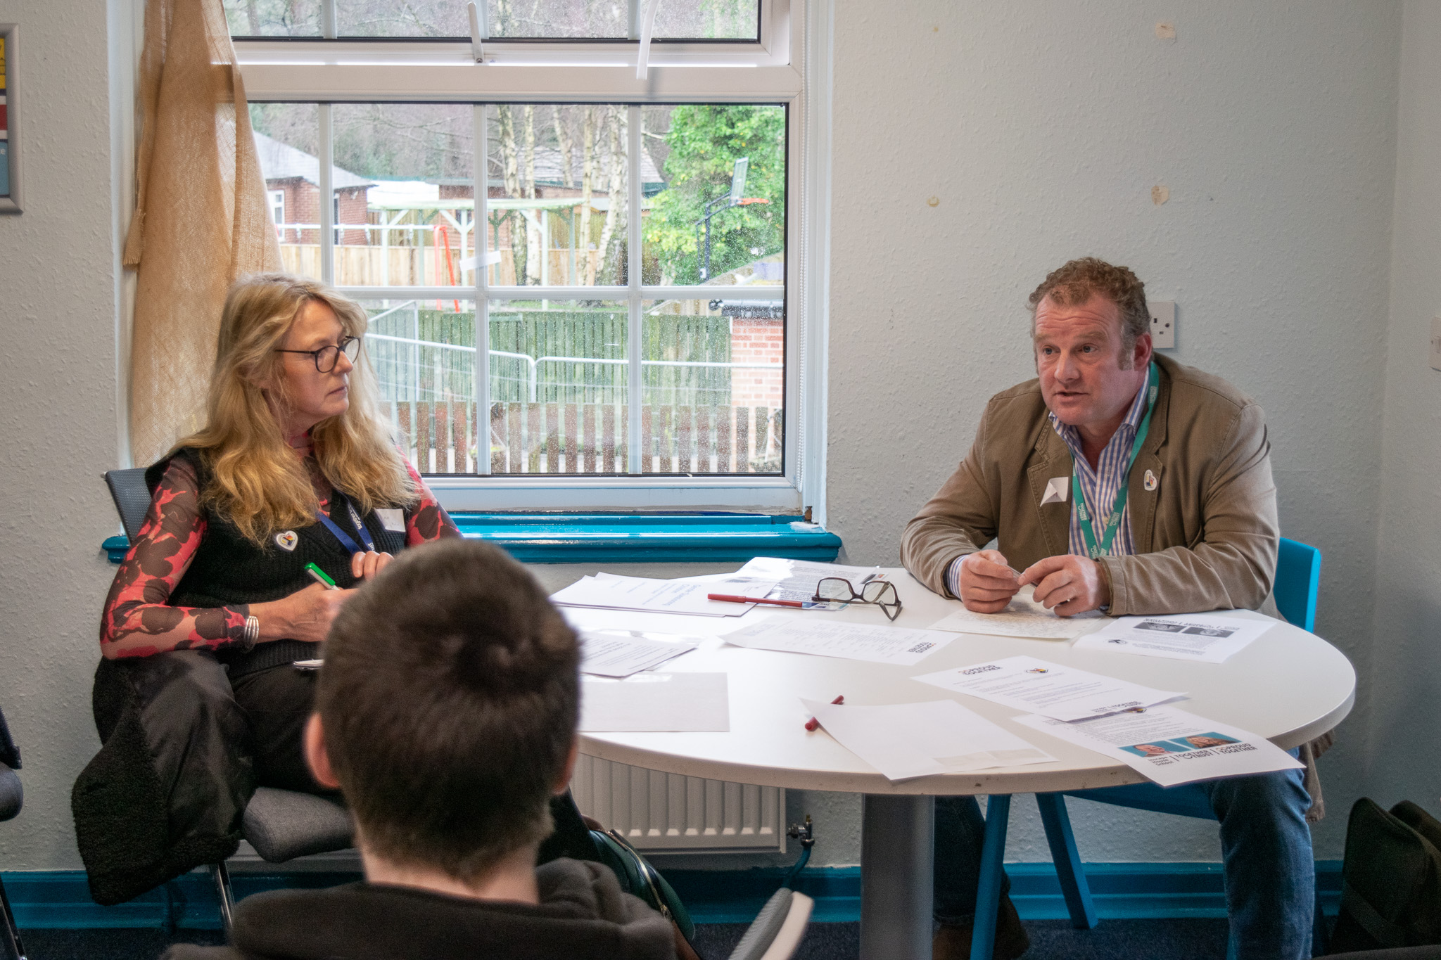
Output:
M536 879L537 907L372 884L256 894L235 911L235 946L163 960L674 960L670 921L608 868L558 859Z

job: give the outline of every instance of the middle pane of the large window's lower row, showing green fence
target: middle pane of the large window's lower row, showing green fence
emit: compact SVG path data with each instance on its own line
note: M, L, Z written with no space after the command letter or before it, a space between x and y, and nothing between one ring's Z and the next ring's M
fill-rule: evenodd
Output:
M627 309L491 301L491 474L624 474Z

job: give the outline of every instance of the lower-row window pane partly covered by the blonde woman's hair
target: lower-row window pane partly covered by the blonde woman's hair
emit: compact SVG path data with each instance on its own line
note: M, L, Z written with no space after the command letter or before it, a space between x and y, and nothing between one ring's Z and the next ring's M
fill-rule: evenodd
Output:
M363 307L380 415L406 456L422 474L474 474L474 301L385 299Z

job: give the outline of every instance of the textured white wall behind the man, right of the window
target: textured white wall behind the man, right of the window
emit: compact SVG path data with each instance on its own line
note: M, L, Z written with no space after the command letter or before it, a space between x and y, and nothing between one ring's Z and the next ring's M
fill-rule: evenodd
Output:
M1177 302L1172 356L1265 409L1282 530L1324 553L1319 632L1365 669L1399 12L837 0L827 469L850 561L898 561L986 399L1035 376L1026 296L1097 255ZM1323 763L1324 856L1363 717L1365 689ZM1212 825L1074 809L1088 859L1219 858ZM1033 823L1013 838L1049 859Z

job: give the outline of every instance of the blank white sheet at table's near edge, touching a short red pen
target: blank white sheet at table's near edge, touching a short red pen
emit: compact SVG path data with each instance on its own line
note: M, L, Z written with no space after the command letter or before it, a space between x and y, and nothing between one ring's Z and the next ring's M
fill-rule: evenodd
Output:
M1049 763L1052 757L954 699L846 707L801 699L836 741L888 780Z

